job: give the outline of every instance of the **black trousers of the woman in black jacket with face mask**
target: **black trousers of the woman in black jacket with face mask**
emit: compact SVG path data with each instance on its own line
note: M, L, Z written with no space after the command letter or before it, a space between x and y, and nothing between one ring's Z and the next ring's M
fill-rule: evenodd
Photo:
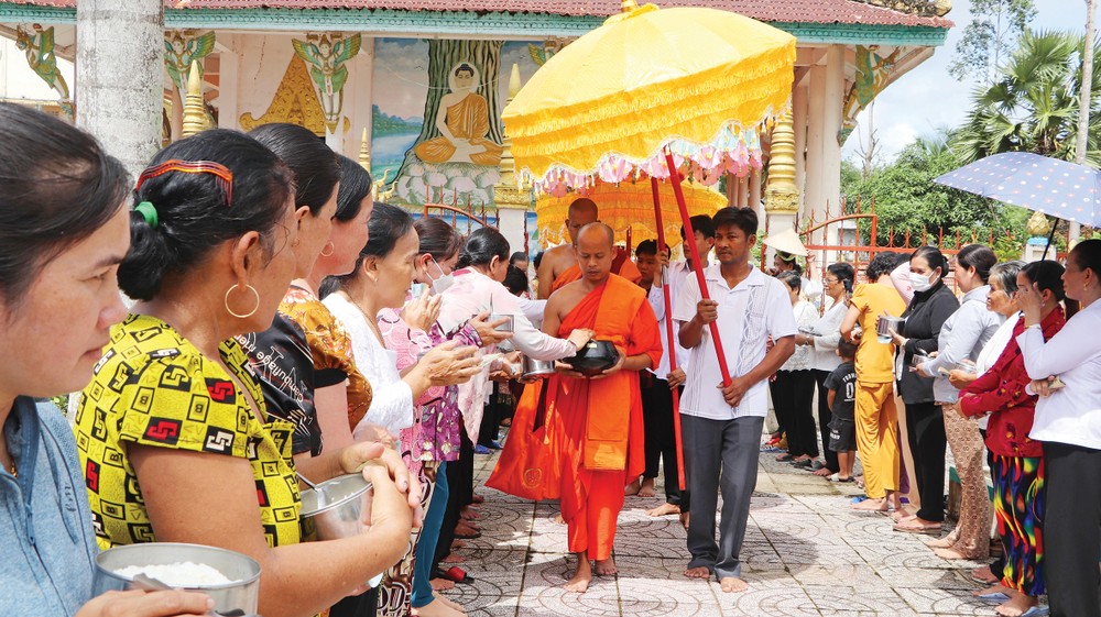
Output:
M906 431L914 455L914 480L922 497L917 516L934 522L945 520L945 416L936 403L907 403Z

